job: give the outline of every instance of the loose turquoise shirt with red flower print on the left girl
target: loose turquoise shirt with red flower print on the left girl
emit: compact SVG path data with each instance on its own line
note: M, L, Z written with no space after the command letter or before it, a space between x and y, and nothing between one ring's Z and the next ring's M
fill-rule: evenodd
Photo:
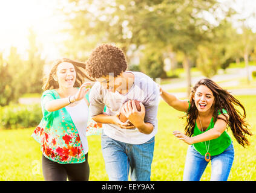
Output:
M70 114L64 108L45 110L48 101L61 98L56 90L45 90L41 96L43 118L32 137L41 144L45 157L58 163L85 162L84 148Z

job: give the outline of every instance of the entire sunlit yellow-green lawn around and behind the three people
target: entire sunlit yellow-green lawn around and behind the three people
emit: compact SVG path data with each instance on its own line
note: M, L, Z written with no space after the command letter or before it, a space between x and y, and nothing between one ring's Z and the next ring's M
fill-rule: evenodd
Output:
M248 114L252 133L256 133L255 96L239 96ZM173 130L183 131L182 112L177 112L163 101L159 104L159 130L156 134L151 180L182 180L188 145L176 139ZM0 180L44 180L42 176L39 144L30 137L33 128L0 130ZM232 136L230 131L228 133ZM229 180L256 180L256 139L249 138L251 146L243 148L234 141L235 160ZM90 180L108 180L100 148L100 136L89 136ZM211 164L206 168L202 180L209 180Z

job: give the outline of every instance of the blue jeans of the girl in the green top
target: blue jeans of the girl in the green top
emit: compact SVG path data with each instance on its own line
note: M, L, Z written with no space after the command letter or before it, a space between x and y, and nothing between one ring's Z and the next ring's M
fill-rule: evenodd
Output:
M228 180L234 161L233 143L223 153L211 156L211 181ZM199 181L209 162L192 145L189 145L186 155L183 181Z

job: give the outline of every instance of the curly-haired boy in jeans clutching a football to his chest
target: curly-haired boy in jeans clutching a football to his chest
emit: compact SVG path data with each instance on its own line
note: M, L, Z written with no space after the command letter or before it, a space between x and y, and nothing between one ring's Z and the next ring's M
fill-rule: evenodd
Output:
M128 180L131 170L131 180L150 180L157 133L157 84L141 72L126 71L125 55L110 44L94 49L86 68L97 81L90 91L90 113L103 124L102 153L109 179ZM133 100L141 102L140 111ZM133 125L120 121L121 109Z

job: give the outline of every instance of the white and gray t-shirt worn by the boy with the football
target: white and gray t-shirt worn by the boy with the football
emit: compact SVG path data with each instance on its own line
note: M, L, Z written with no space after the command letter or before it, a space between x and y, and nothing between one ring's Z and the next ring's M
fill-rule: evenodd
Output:
M126 71L128 72L128 71ZM110 92L103 89L99 82L95 83L90 90L90 115L96 116L103 112L107 106L107 115L116 115L120 112L122 104L128 100L137 100L145 106L145 122L154 125L150 134L141 133L137 128L134 130L120 128L115 124L102 124L103 132L110 138L128 144L143 144L157 133L157 109L159 105L159 88L157 84L142 72L130 72L134 74L134 83L128 93L122 95L119 92Z

